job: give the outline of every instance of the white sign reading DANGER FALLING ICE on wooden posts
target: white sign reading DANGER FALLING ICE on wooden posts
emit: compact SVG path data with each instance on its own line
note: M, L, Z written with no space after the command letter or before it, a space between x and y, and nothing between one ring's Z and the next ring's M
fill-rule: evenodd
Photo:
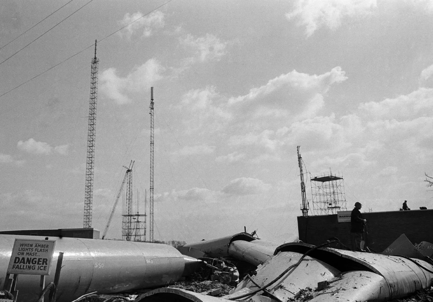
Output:
M55 240L15 239L8 274L49 275Z

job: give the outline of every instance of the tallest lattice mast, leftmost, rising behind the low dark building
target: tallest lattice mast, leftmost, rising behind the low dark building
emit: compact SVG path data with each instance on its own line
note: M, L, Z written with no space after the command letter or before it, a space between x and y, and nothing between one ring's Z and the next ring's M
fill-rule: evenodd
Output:
M95 141L96 141L96 104L98 100L98 66L99 59L92 58L90 75L90 105L89 128L87 135L87 161L86 161L86 188L84 194L84 223L83 228L92 227L92 203L93 203L93 172L95 168Z

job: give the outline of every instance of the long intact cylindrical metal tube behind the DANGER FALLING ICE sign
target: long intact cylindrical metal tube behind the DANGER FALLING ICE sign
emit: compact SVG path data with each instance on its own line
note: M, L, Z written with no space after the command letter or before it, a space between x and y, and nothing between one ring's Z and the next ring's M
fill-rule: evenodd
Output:
M0 235L0 288L3 288L15 238L44 240L38 236ZM59 252L63 252L57 301L70 301L87 292L115 293L168 285L184 272L184 256L165 244L129 241L58 238L50 275L53 281ZM20 275L18 301L36 300L38 275Z

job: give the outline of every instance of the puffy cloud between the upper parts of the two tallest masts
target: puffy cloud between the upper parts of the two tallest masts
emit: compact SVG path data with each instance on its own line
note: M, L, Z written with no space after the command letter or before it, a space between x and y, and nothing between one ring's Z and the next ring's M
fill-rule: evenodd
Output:
M100 91L117 104L128 104L132 101L130 94L148 90L155 82L163 78L165 68L156 59L150 59L122 78L116 74L116 69L105 69L100 77Z

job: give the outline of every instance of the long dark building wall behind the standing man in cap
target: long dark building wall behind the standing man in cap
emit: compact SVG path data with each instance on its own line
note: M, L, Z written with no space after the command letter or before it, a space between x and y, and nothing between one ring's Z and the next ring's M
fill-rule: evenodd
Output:
M413 243L433 243L433 210L410 210L362 213L367 219L366 242L369 248L380 253L401 234ZM350 222L338 222L337 215L298 217L299 239L305 243L320 245L330 238L350 244Z

